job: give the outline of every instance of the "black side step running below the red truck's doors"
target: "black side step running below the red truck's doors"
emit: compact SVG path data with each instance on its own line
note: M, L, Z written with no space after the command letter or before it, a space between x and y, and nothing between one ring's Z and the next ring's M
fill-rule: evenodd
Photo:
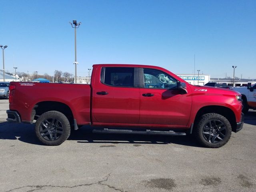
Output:
M174 131L134 131L134 130L119 130L119 129L108 129L104 128L104 130L94 129L93 133L113 133L113 134L141 134L141 135L171 135L171 136L186 136L184 132L174 132Z

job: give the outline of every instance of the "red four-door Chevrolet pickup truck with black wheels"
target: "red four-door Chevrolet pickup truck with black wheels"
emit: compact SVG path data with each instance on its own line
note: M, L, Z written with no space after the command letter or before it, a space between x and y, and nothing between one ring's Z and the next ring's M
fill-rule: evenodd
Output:
M10 83L8 121L35 123L46 145L60 145L70 129L93 132L193 134L218 148L243 126L241 94L193 86L157 66L96 64L91 84Z

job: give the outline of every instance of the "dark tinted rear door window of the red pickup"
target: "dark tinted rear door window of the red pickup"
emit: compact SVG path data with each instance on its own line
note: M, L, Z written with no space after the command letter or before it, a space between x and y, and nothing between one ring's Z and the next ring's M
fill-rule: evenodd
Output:
M134 86L134 68L105 67L102 69L101 81L104 84L117 87Z

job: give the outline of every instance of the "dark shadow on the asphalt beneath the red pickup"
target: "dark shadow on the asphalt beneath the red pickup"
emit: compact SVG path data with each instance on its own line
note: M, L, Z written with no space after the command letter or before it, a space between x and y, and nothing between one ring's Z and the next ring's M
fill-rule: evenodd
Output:
M34 133L33 124L18 124L12 122L0 123L0 140L20 140L22 142L42 145ZM96 134L92 128L83 126L79 130L72 131L68 140L78 143L105 143L105 144L180 144L185 146L201 147L189 136L156 136L156 135L128 135L128 134Z

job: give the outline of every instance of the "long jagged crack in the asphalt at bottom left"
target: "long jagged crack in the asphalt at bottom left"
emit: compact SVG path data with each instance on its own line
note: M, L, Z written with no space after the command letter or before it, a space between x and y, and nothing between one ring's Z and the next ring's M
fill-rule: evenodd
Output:
M116 190L116 191L127 192L127 191L118 189L118 188L116 188L116 187L114 187L114 186L111 186L111 185L108 185L108 184L104 184L104 183L103 183L103 182L108 181L108 178L110 177L110 174L111 174L111 173L109 173L108 176L106 177L106 179L104 179L104 180L101 180L101 181L98 181L98 182L94 182L94 183L89 183L89 184L80 184L80 185L75 185L75 186L27 185L27 186L22 186L22 187L18 187L18 188L14 188L14 189L8 190L8 191L6 191L6 192L13 192L14 190L22 189L22 188L26 188L26 187L36 188L36 189L31 189L31 190L28 190L28 191L27 191L27 192L33 192L33 191L36 191L36 190L43 190L44 187L51 187L51 188L76 188L76 187L81 187L81 186L91 186L91 185L95 185L95 184L99 184L99 185L102 185L102 186L107 186L108 188L114 189L114 190Z

